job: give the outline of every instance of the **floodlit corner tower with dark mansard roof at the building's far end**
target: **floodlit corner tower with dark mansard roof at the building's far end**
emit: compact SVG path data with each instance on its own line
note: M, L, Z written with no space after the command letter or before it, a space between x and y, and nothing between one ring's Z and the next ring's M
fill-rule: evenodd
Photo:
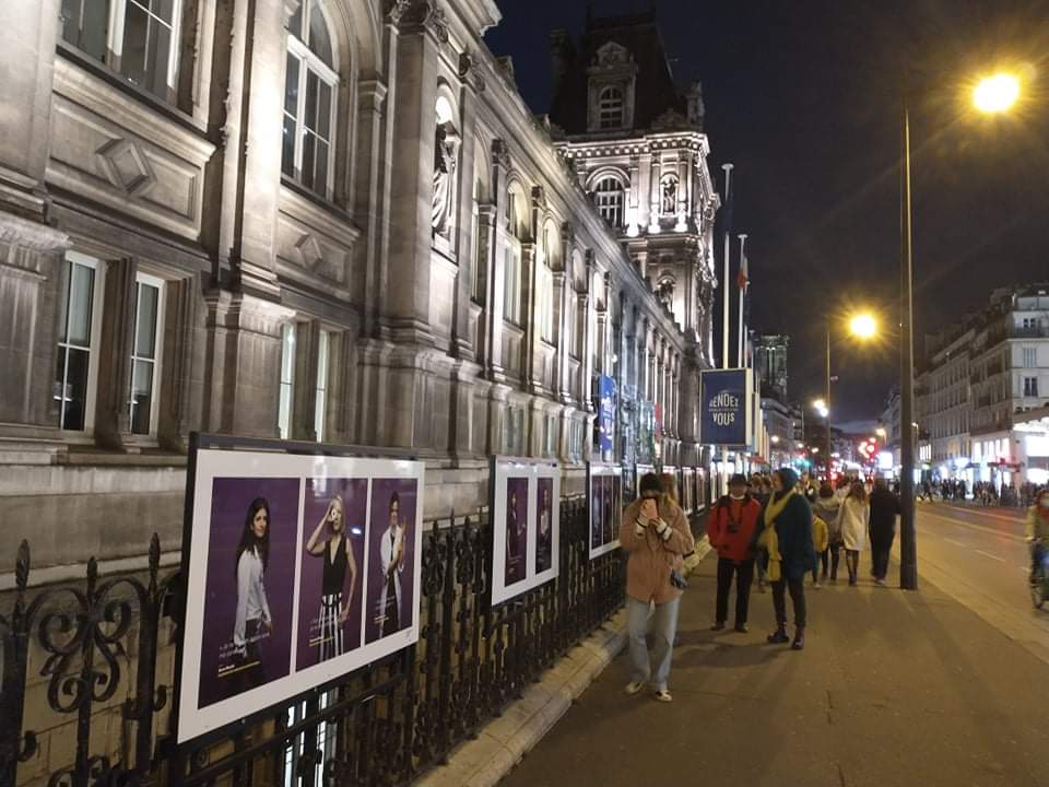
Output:
M684 345L670 353L669 362L672 378L682 385L673 384L680 392L670 397L694 400L693 381L712 354L714 216L720 204L707 167L700 85L694 82L685 92L675 86L655 11L588 14L578 48L566 31L552 33L551 58L550 119L557 150L680 329ZM632 334L626 342L636 339ZM658 353L657 375L662 363ZM643 410L646 401L661 404L663 434L689 448L696 445L695 424L682 422L673 399L643 380L624 383L628 411ZM630 427L628 420L627 434ZM659 458L698 463L697 454L676 448L662 446ZM641 456L639 461L650 460Z

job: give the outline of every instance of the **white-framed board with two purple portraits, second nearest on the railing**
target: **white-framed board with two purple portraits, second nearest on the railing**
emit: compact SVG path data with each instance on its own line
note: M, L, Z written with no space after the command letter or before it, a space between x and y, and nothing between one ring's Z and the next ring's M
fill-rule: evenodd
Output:
M492 604L557 576L561 468L535 459L492 458Z

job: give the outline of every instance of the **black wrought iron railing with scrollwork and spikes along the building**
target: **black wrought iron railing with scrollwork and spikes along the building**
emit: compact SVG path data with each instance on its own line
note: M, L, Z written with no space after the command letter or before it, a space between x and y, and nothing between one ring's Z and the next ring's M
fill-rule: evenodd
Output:
M582 498L562 501L555 582L490 603L492 532L482 514L423 537L420 641L285 702L264 718L175 744L179 576L30 588L30 548L0 599L0 787L47 785L401 785L461 741L615 612L618 551L588 560Z

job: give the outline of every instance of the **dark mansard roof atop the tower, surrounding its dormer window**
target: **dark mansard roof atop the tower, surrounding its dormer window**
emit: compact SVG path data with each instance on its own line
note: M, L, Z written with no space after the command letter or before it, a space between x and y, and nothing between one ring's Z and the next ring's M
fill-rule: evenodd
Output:
M609 47L609 44L613 44ZM637 66L634 128L650 129L657 118L674 110L686 114L686 101L674 85L663 38L656 23L655 11L621 16L587 19L580 46L576 49L564 35L551 38L565 59L564 78L553 86L550 118L568 136L587 133L588 68L603 55L615 56L625 48ZM554 57L557 51L552 52ZM556 70L555 70L556 73Z

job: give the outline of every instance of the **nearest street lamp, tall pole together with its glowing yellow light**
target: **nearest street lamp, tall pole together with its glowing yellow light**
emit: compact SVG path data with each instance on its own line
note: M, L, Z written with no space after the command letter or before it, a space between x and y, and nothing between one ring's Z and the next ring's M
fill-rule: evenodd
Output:
M1019 98L1021 84L1016 77L995 73L977 82L973 103L985 114L1009 111ZM915 348L911 325L915 314L914 247L911 228L914 211L910 204L910 105L908 91L903 91L900 124L900 199L899 199L899 586L918 589L918 549L915 532L915 430L904 424L915 421Z

